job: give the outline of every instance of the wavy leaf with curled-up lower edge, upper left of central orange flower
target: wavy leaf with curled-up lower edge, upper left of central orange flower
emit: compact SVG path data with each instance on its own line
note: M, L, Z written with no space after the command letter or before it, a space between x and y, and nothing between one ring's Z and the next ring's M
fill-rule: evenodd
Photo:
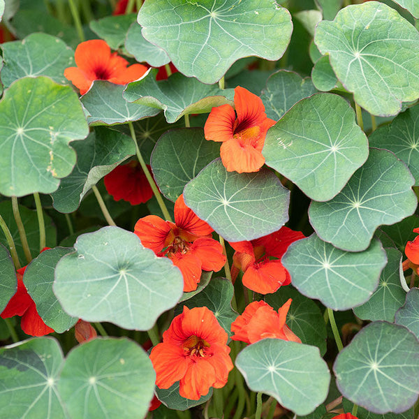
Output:
M183 115L207 113L214 106L233 104L233 96L232 89L221 90L218 84L204 84L180 73L157 82L156 70L150 71L142 80L129 83L124 92L124 98L129 102L163 109L169 124Z

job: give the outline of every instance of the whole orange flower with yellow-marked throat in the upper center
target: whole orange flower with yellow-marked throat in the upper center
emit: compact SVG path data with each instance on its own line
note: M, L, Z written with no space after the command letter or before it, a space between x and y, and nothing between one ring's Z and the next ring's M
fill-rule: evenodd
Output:
M223 142L221 161L228 172L257 172L265 163L266 132L275 121L266 116L262 99L243 87L235 88L234 104L237 118L230 105L212 108L205 138Z

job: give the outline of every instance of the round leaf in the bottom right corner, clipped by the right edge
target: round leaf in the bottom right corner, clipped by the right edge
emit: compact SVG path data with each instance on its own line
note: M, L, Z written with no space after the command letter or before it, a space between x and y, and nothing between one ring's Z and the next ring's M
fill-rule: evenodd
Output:
M337 355L337 387L351 402L373 413L401 413L419 392L419 341L400 325L365 326Z

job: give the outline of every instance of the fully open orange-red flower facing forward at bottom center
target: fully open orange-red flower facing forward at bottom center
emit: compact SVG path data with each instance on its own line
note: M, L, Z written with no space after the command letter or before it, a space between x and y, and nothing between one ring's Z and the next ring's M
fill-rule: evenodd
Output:
M169 388L179 381L179 394L198 400L210 387L226 385L233 369L227 339L210 309L184 306L163 333L163 343L150 353L157 387Z

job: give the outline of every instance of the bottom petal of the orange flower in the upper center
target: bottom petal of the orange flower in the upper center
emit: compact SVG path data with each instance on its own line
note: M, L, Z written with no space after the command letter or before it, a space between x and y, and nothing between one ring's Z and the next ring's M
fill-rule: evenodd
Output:
M220 156L228 172L257 172L265 163L265 157L259 150L251 145L242 145L236 138L221 144Z

